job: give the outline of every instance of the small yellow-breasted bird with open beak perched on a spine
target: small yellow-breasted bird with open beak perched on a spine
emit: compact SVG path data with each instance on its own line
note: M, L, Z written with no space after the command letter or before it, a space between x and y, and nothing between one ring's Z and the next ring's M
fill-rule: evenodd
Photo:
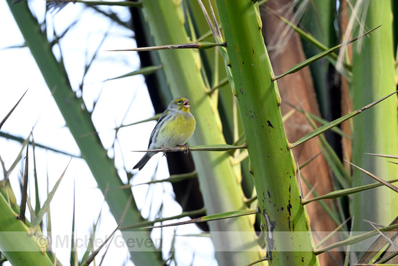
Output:
M170 102L151 133L148 150L163 148L163 153L165 153L167 148L175 148L187 143L194 134L196 126L189 102L191 101L186 98L176 98ZM133 169L141 170L156 153L153 151L145 153Z

